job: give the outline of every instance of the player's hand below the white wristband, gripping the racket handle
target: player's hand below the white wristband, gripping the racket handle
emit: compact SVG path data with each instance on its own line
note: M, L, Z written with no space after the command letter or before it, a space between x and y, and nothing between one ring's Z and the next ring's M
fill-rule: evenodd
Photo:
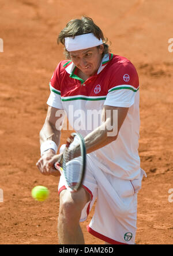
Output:
M40 157L39 161L37 161L36 166L39 169L39 172L42 173L42 175L53 175L53 176L59 176L60 173L58 170L55 170L52 166L50 166L51 159L55 156L54 150L47 150L45 153L43 153L42 157Z

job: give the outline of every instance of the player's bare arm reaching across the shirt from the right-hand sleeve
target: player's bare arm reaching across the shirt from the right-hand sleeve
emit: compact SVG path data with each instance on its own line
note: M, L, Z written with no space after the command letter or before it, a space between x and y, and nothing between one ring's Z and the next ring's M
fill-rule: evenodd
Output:
M107 111L110 110L110 111ZM127 116L129 108L128 107L114 107L104 105L102 110L102 124L97 127L94 131L90 132L85 136L85 146L86 153L92 153L95 150L100 149L101 147L106 146L107 144L113 142L118 137L119 129L121 128L123 121ZM110 136L110 133L113 132L114 128L112 124L114 123L114 114L115 111L118 112L118 121L114 125L117 126L117 132L114 136ZM107 114L110 113L110 114ZM111 128L111 129L110 129ZM80 155L80 146L76 146L73 149L74 158ZM49 166L52 166L54 162L58 161L59 155L55 155L49 162Z

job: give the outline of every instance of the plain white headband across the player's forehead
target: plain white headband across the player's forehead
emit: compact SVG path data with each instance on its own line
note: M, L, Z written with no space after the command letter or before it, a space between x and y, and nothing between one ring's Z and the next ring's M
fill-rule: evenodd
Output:
M72 36L65 38L65 47L67 51L84 50L99 46L100 44L103 44L103 41L96 38L93 33L75 36L74 38Z

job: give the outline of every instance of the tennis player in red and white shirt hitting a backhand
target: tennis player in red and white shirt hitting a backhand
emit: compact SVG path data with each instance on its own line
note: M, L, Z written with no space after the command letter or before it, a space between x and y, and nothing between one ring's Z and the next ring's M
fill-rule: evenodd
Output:
M127 58L110 53L103 32L89 17L69 21L58 43L65 46L67 60L58 64L50 80L48 112L40 131L42 156L36 165L43 175L59 175L53 166L61 156L57 150L65 114L84 137L87 151L82 188L72 193L62 176L59 180L59 243L84 244L80 221L96 201L88 232L106 244L134 244L137 194L146 176L138 155L136 68ZM74 157L78 150L74 141ZM72 161L78 168L78 158Z

